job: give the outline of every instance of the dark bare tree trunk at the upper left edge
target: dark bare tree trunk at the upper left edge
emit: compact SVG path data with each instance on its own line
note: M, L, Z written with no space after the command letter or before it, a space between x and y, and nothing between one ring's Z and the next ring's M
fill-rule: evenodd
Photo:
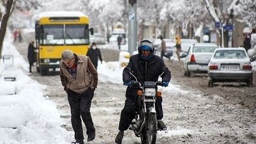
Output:
M6 32L6 26L8 19L10 17L10 12L12 9L13 0L8 0L6 3L6 13L3 16L0 28L0 58L2 58L2 50L3 50L3 42L4 42L4 35Z

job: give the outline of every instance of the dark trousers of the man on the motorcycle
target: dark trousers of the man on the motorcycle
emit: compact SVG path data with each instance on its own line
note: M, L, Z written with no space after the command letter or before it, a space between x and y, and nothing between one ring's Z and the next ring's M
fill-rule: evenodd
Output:
M136 114L136 109L138 105L138 97L136 99L126 98L124 109L122 109L120 122L118 129L120 131L126 131L129 128L133 118ZM162 97L156 97L156 118L161 120L163 118L163 109L162 109Z

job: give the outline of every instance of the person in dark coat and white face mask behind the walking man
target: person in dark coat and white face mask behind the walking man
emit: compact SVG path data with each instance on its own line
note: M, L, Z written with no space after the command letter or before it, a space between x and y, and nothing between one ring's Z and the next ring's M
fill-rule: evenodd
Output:
M96 69L98 67L99 59L100 59L100 62L102 63L101 52L100 52L100 49L97 48L97 45L95 42L92 43L92 47L88 50L86 56L90 58L90 60L92 61Z

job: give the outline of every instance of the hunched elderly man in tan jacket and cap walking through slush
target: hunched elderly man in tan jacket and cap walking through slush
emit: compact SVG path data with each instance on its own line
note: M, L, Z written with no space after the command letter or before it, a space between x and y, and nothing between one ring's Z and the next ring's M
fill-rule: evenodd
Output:
M97 70L87 56L79 56L70 50L61 54L60 79L68 95L71 123L75 132L74 143L84 144L81 118L86 126L87 141L95 139L90 108L94 90L98 84Z

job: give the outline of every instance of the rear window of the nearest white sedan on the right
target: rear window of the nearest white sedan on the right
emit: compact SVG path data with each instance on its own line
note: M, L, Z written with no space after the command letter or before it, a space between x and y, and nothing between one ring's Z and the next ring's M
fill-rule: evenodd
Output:
M223 50L223 51L216 51L216 53L214 54L214 58L242 59L242 58L246 58L246 54L244 53L243 50Z

